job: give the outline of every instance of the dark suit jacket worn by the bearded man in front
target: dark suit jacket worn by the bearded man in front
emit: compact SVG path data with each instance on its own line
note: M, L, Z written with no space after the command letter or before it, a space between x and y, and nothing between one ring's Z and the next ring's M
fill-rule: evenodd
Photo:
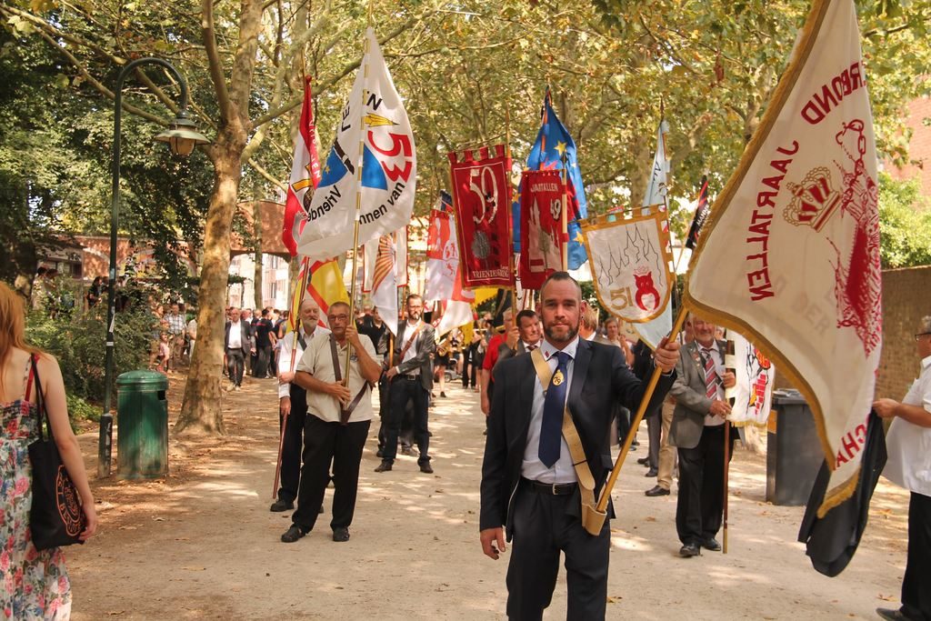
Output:
M493 373L495 388L481 466L479 528L506 525L509 537L509 504L520 479L527 445L536 371L530 356L517 356L496 366ZM662 403L673 380L675 371L660 377L651 404ZM595 479L596 498L614 466L611 459L614 404L620 402L636 410L645 388L646 383L627 368L620 347L579 339L566 403ZM571 502L569 506L570 511L581 513L578 502Z

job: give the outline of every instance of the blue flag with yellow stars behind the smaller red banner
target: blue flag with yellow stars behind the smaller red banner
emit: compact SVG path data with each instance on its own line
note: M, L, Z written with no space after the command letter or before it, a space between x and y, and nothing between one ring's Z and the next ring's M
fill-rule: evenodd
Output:
M582 184L582 171L579 169L575 157L575 142L569 130L566 129L560 117L556 115L550 101L549 90L541 113L540 132L536 135L536 142L527 156L525 170L561 170L565 162L568 170L568 204L569 213L569 269L578 269L588 260L585 245L582 243L582 233L579 223L573 222L587 217L588 209L585 198L585 186ZM521 183L522 184L522 183ZM520 191L511 207L514 222L514 251L520 251Z

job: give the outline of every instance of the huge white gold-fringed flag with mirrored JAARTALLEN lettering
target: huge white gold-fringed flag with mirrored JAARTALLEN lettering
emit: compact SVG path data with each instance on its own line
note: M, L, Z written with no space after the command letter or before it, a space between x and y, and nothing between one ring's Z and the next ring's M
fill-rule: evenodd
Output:
M760 127L711 209L685 304L740 331L807 398L854 492L882 346L876 149L853 0L815 0Z

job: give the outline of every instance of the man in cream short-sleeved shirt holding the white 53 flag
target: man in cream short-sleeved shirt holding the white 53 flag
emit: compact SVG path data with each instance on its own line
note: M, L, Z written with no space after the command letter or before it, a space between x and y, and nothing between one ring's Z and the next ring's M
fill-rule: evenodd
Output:
M331 304L327 319L332 333L307 344L294 376L294 383L307 391L307 417L297 510L291 515L290 528L281 535L281 541L288 544L313 530L331 466L332 539L349 539L356 511L358 466L371 425L371 386L382 374L371 339L359 338L349 304ZM348 369L344 369L349 346L352 352ZM348 385L341 381L345 377Z

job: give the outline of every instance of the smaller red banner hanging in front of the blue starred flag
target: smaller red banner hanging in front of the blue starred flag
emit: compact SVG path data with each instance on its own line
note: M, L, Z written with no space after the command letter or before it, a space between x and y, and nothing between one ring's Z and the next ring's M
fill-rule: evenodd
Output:
M520 187L520 263L524 289L540 289L562 269L562 177L559 170L524 170Z

